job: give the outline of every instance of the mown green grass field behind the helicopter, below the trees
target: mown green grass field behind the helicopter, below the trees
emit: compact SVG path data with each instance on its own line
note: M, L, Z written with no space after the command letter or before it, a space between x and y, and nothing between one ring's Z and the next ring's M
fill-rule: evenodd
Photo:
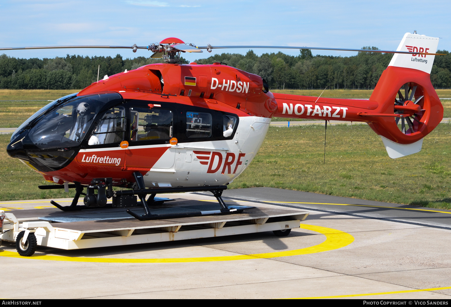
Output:
M23 103L18 107L0 102L0 114L9 112L0 115L1 125L18 126L46 104ZM451 117L451 102L444 104L449 114L445 117ZM10 137L0 135L0 200L73 196L64 190L39 190L37 185L46 184L43 177L6 154ZM339 125L327 129L323 163L324 126L270 127L254 161L229 188L270 186L451 209L450 148L450 124L440 124L426 136L418 154L395 160L388 158L380 137L366 124L352 129Z

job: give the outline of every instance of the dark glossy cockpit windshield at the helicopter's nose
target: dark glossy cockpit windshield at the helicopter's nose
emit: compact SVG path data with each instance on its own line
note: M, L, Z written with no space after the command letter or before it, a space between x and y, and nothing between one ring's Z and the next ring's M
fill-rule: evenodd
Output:
M107 104L121 102L118 93L60 98L23 123L12 135L6 150L11 157L28 161L39 171L60 169L72 161L83 142L88 144L93 123Z

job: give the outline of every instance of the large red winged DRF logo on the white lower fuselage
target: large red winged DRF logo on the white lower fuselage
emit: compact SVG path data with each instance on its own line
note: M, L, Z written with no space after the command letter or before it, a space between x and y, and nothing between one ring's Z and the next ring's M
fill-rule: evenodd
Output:
M220 152L216 151L211 152L211 151L194 150L193 153L196 154L196 158L199 159L199 162L201 164L208 165L207 173L215 173L222 166L221 174L226 173L226 171L227 174L235 174L236 170L238 169L238 166L243 164L241 158L243 158L246 155L246 154L238 154L238 158L236 158L234 153L227 153L226 157L223 157ZM235 163L235 168L232 173L233 163Z

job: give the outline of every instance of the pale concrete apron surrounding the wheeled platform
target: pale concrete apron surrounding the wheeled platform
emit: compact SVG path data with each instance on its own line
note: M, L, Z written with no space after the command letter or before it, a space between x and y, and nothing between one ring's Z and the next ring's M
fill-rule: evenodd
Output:
M214 200L189 193L170 197ZM0 203L12 211L47 205L47 200ZM288 237L269 232L76 251L38 247L37 256L60 256L54 260L2 256L3 251L15 252L13 244L4 242L2 294L5 298L450 298L450 230L313 210L302 224L306 226L293 229ZM307 225L323 227L313 228L322 233L306 229L312 228ZM331 235L334 230L342 233ZM340 241L346 236L349 241L349 235L353 242ZM329 242L325 251L318 248L323 242ZM293 250L310 252L283 256ZM269 252L282 256L221 258ZM83 261L86 257L98 260ZM197 260L167 260L173 258ZM163 260L126 262L131 259ZM437 289L443 287L450 288Z

